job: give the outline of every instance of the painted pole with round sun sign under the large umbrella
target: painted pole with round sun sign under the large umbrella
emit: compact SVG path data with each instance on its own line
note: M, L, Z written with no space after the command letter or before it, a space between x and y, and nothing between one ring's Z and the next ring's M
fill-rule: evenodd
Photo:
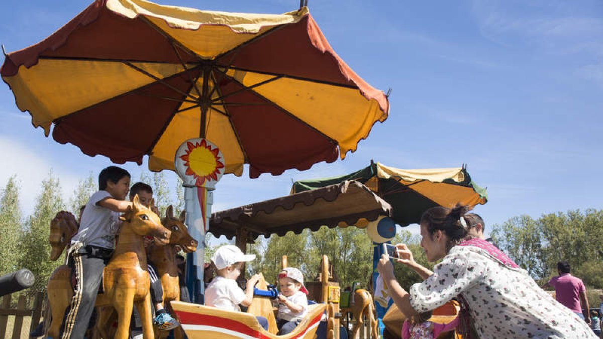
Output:
M178 147L174 165L185 187L186 225L191 236L199 242L197 251L186 257L186 286L191 301L203 304L205 234L209 229L213 190L225 170L224 157L212 142L194 138Z

